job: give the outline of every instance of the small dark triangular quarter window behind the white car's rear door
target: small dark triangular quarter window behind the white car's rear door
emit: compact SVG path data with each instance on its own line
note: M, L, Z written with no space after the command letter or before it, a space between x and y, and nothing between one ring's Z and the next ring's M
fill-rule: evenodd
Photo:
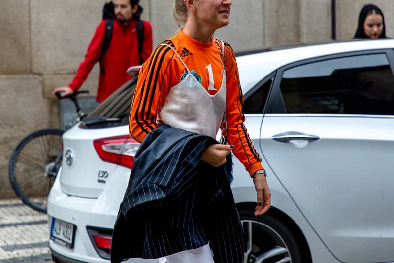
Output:
M268 98L268 92L272 84L272 79L269 78L255 91L248 96L243 103L242 112L246 114L261 114L263 113L265 102ZM248 94L249 95L249 94Z

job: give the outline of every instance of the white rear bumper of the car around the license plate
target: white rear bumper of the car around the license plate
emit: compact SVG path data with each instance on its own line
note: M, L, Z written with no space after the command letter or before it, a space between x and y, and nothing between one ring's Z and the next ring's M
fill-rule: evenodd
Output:
M120 182L117 182L119 184ZM126 182L127 184L127 182ZM110 189L110 192L109 190ZM124 191L123 191L124 192ZM70 196L61 191L59 176L48 196L48 228L57 218L76 225L73 248L49 240L50 249L60 263L109 263L96 252L87 226L113 229L123 192L107 185L99 198ZM127 263L158 263L158 260L131 259Z

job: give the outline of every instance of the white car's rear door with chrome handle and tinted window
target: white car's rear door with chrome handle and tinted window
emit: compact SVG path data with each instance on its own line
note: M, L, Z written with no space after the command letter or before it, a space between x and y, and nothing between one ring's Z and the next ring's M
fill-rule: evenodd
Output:
M274 176L342 262L394 261L389 61L393 50L279 69L262 121L261 150Z

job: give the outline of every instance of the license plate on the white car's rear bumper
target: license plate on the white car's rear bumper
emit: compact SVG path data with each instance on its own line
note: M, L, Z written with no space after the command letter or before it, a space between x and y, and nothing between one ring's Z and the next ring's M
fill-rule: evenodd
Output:
M53 218L51 227L51 240L67 248L73 248L75 230L75 225Z

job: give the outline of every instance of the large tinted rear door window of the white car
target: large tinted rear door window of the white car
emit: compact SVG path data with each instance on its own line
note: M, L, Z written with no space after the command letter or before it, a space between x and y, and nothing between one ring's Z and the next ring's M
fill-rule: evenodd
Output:
M394 114L394 77L384 53L290 68L280 90L287 113Z

